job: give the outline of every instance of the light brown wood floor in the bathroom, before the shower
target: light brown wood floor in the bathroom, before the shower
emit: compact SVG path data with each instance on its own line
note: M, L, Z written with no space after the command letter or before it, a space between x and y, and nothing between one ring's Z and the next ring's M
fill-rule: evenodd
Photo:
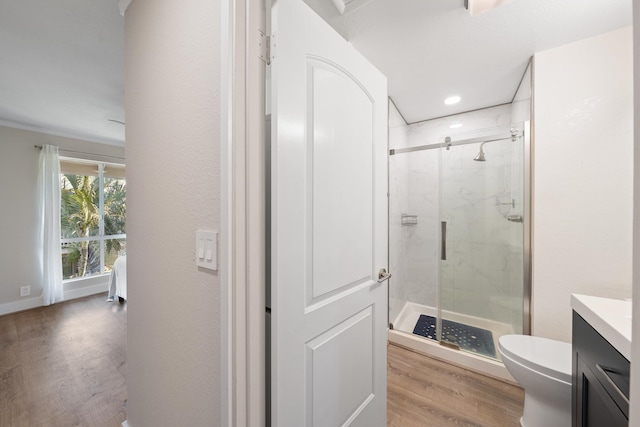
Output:
M390 344L387 426L520 425L524 391Z

